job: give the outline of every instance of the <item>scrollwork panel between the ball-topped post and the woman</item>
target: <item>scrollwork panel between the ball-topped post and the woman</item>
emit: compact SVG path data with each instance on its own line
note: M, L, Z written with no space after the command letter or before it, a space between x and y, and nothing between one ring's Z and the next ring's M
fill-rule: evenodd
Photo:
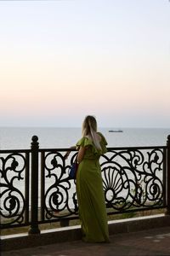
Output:
M71 165L77 153L72 154L71 164L66 165L63 154L47 153L44 156L45 218L64 218L77 215L76 181L69 177Z

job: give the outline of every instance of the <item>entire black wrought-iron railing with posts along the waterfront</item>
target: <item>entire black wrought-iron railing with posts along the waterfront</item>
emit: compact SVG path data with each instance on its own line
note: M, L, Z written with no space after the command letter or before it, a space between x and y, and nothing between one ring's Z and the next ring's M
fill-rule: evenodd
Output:
M108 215L167 208L170 214L170 136L160 147L107 148L100 158ZM65 152L70 157L65 160ZM77 150L0 150L1 229L78 218L76 180L69 177Z

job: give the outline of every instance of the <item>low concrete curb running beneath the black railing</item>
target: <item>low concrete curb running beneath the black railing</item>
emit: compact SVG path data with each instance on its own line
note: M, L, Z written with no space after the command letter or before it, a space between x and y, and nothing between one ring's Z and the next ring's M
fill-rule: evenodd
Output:
M141 218L128 218L109 222L110 235L150 230L170 226L170 216L160 214ZM27 233L1 237L1 250L11 251L26 247L37 247L65 241L81 240L81 227L72 226L54 230L43 230L38 235Z

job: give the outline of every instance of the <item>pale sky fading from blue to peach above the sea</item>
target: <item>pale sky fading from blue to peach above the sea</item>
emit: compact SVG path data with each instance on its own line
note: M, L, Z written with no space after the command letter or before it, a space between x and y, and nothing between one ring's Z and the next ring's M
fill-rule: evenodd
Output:
M170 127L168 0L0 1L0 126Z

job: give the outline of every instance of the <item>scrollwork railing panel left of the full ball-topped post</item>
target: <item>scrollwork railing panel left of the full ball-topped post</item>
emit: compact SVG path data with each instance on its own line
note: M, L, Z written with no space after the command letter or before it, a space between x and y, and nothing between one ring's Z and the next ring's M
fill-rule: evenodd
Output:
M5 224L22 224L24 222L24 212L26 210L24 196L26 165L25 154L1 154L0 215L2 226Z

